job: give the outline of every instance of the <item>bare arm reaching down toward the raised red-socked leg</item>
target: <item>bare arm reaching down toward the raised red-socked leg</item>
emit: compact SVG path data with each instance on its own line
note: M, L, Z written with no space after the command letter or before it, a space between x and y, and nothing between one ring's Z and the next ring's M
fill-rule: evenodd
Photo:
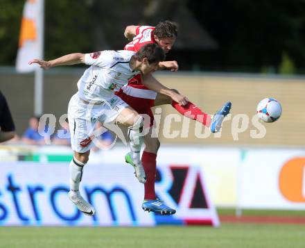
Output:
M176 101L178 104L184 106L189 102L187 97L182 96L175 92L174 90L166 88L162 83L159 83L156 78L153 77L152 74L142 75L143 76L143 85L145 85L148 89L158 92L160 94L165 94L168 97L171 97L173 101Z

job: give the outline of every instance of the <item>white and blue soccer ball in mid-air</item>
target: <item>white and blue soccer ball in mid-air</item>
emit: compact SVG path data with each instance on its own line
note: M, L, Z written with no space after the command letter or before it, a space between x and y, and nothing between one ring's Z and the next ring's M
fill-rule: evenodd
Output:
M281 116L281 104L273 98L261 100L256 110L263 122L275 122Z

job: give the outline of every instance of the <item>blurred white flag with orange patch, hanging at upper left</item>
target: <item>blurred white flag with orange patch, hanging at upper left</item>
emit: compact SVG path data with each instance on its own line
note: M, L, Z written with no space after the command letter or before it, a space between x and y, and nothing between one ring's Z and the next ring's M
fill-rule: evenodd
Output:
M28 65L28 61L43 57L43 8L44 0L26 0L24 4L16 60L17 72L33 72L39 67Z

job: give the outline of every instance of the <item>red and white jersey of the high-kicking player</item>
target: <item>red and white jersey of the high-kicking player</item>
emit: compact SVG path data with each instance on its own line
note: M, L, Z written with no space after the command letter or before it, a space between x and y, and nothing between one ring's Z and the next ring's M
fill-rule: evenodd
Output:
M154 26L137 26L136 36L133 38L132 42L125 45L124 50L137 52L146 44L157 43L154 38L154 31ZM130 81L128 81L128 85L125 85L122 90L125 94L132 97L144 99L155 99L157 97L157 92L148 90L148 88L142 84L141 74L131 78Z

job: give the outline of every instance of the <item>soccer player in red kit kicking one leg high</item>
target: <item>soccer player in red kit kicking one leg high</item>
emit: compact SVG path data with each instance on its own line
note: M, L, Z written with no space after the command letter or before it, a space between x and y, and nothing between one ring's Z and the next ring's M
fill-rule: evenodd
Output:
M177 24L174 22L159 22L157 26L127 26L125 28L125 38L130 40L130 43L126 44L124 49L130 51L138 51L143 45L149 43L156 43L159 47L162 47L165 53L171 51L173 44L177 38ZM159 63L158 69L170 69L173 72L177 72L178 64L176 61L163 61ZM227 102L221 108L213 119L210 115L203 113L195 104L191 101L176 102L175 94L179 94L177 90L170 90L166 94L159 94L153 90L148 90L141 82L145 80L146 83L159 83L152 74L146 75L146 78L141 78L141 75L137 75L128 81L128 85L125 85L119 92L116 93L123 101L128 103L132 108L137 110L139 114L146 114L150 117L150 126L153 126L154 116L150 109L153 106L159 106L163 104L171 104L182 115L195 119L201 122L205 126L211 126L211 131L216 133L220 130L223 118L229 113L231 103ZM156 158L157 151L159 149L160 142L158 138L152 137L152 129L144 136L145 149L143 151L141 160L146 172L146 183L144 184L145 195L142 204L143 210L153 211L163 215L171 215L176 211L164 204L163 201L156 199L155 195L155 174L156 174ZM155 136L154 136L155 137ZM130 155L125 156L125 160L130 165L133 165L133 161Z

